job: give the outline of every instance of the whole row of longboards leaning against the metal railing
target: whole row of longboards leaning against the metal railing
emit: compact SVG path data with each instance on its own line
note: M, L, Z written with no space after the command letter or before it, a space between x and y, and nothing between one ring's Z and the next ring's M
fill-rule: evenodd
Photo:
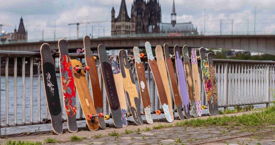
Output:
M112 117L113 123L117 128L127 126L127 117L130 115L137 125L143 125L141 114L146 116L146 122L148 124L152 124L153 119L150 109L150 96L146 84L145 64L141 61L141 58L145 55L140 53L138 47L133 48L135 73L137 74L139 93L144 107L144 113L141 113L138 90L136 89L135 79L127 52L122 49L119 51L118 58L115 56L109 58L105 46L103 44L98 45L97 50L100 71L106 91L106 100L108 101L111 110L111 116L104 116L103 98L99 87L96 66L97 58L92 54L89 36L84 37L83 43L83 51L85 52L86 61L86 66L84 67L82 67L79 60L69 58L67 41L65 39L61 39L58 42L60 79L62 83L64 107L67 114L68 130L70 132L78 131L76 123L76 92L79 96L87 127L91 131L95 131L99 127L105 129L106 125L104 119L109 119L110 117ZM160 104L162 105L162 110L157 110L155 113L158 115L163 113L168 122L173 122L174 110L172 102L174 100L177 108L176 112L178 112L180 119L191 117L189 111L190 108L192 116L201 116L201 90L196 49L192 48L191 50L190 64L188 46L185 45L183 47L183 61L178 45L174 47L176 74L178 76L177 83L168 44L164 44L164 54L161 45L156 47L155 52L157 61L153 56L151 44L146 42L145 47L146 57L148 59L148 69L152 72ZM54 51L51 51L49 44L47 43L42 44L40 51L44 87L52 128L56 134L62 134L62 109L59 101L59 91L52 57L52 52ZM54 52L54 54L57 54L57 52ZM211 53L208 54L207 61L205 58L205 49L200 48L200 58L209 114L210 116L214 116L215 114L218 114L218 108L215 68L213 67L212 55ZM88 82L85 76L85 71L87 71L89 75ZM88 83L91 84L92 95L90 94ZM170 91L172 91L173 99ZM127 112L126 102L128 102L130 112Z

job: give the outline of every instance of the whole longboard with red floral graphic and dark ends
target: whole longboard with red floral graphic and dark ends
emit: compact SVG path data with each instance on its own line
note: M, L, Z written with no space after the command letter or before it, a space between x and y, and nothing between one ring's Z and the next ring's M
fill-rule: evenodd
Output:
M60 39L58 41L59 48L59 68L60 68L60 80L62 83L62 95L64 101L64 108L67 114L67 126L70 132L77 132L77 102L76 102L76 90L73 78L73 69L68 51L68 41Z

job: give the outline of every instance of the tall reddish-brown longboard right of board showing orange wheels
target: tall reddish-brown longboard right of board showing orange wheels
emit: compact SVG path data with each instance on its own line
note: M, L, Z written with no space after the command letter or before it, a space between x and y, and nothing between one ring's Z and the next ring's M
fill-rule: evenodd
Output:
M97 74L97 64L94 59L93 53L91 51L91 45L90 45L90 37L85 36L83 39L84 42L84 50L85 50L85 61L87 66L90 67L88 70L89 73L89 79L90 84L92 88L92 96L95 108L98 113L103 113L103 98L100 91L100 85L99 85L99 79ZM105 121L103 117L98 117L99 126L101 129L106 129Z

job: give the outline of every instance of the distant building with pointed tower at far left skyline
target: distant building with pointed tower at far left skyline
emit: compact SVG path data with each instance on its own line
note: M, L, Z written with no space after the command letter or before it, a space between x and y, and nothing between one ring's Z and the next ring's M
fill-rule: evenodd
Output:
M17 30L15 28L13 33L7 33L7 32L0 33L0 41L2 43L6 41L17 41L17 40L27 40L27 39L28 39L28 32L24 27L22 16L21 16L19 27Z

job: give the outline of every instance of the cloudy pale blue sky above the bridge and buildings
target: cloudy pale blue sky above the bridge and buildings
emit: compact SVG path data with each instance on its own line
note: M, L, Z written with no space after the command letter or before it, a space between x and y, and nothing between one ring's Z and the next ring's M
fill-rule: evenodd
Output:
M171 22L172 0L159 0L162 22ZM126 0L128 15L133 0ZM111 10L118 15L121 0L0 0L0 24L2 30L13 32L18 28L22 15L29 39L42 40L76 37L76 25L70 23L100 22L80 25L80 37L111 35ZM254 33L256 7L256 31L275 33L275 0L175 0L177 23L192 22L198 32L247 34ZM204 13L206 12L206 13ZM204 25L204 18L206 25ZM248 19L249 18L249 19ZM248 25L247 25L248 22ZM205 26L205 27L204 27ZM87 29L86 29L87 28ZM93 31L92 31L93 28Z

